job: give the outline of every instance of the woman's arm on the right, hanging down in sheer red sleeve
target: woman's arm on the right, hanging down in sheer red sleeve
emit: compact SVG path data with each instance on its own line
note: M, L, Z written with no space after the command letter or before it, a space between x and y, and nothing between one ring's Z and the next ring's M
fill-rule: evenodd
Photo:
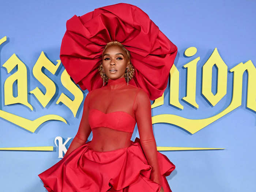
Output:
M157 159L157 145L152 127L151 103L147 93L140 89L134 104L140 143L148 164L152 167L151 180L162 185L161 173Z

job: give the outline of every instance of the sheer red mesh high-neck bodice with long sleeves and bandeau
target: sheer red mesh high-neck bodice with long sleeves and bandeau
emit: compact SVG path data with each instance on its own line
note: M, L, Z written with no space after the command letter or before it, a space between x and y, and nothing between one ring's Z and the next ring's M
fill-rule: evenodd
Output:
M91 131L93 139L90 148L94 151L129 147L136 123L142 149L152 166L151 180L162 184L150 99L143 89L130 84L127 86L125 78L109 79L104 87L87 94L78 132L64 158L86 143Z

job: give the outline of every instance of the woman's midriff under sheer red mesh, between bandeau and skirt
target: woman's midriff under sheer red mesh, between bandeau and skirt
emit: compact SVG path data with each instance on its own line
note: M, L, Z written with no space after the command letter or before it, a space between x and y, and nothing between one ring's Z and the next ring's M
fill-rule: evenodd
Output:
M113 151L131 145L131 132L118 131L108 127L93 128L92 132L93 139L90 148L94 151Z

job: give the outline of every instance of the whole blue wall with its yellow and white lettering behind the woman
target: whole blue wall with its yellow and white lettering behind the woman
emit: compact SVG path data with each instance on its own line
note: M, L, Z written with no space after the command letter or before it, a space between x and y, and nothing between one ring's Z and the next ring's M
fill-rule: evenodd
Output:
M1 191L46 191L37 175L63 158L88 93L59 58L66 21L115 3L1 1ZM123 3L145 11L178 47L151 105L158 150L176 165L172 191L255 191L256 2Z

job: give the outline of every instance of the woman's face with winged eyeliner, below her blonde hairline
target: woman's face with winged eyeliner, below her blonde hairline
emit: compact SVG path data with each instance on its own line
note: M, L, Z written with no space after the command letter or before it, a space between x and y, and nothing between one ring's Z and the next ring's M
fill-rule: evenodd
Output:
M102 66L109 79L123 78L127 65L127 54L118 45L109 46L102 53Z

